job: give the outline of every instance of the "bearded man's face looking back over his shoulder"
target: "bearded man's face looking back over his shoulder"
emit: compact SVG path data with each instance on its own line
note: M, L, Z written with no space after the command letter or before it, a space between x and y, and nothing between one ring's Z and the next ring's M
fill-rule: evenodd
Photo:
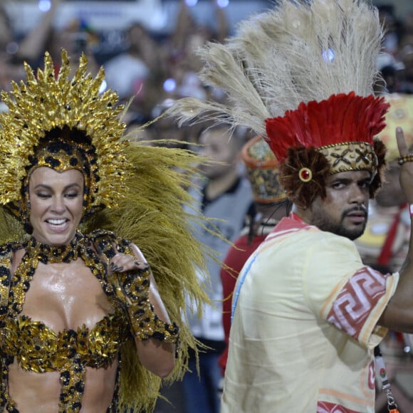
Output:
M365 230L369 203L370 172L339 172L328 177L325 198L310 206L310 224L323 231L354 240Z

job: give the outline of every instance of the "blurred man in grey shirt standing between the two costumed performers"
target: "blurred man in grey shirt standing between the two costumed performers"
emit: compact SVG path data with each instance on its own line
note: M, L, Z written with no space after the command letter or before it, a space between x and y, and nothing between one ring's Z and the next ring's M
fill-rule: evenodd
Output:
M200 135L202 153L211 162L202 165L205 182L201 191L192 190L196 198L194 212L208 219L209 226L199 227L197 238L214 251L207 260L211 283L206 284L211 305L205 305L202 318L189 316L192 333L206 347L199 352L199 374L195 357L182 382L187 413L218 413L218 389L221 381L218 358L224 350L222 326L221 261L244 226L252 204L251 187L240 172L240 152L245 132L236 130L229 139L229 125L207 127ZM217 236L217 233L220 236ZM203 274L199 273L203 278Z

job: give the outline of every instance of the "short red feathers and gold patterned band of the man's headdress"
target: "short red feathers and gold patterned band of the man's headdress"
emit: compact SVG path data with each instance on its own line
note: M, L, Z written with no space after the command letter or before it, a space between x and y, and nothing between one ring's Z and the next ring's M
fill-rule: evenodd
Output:
M385 98L354 92L300 103L284 116L266 119L268 145L279 162L289 148L315 148L328 158L331 172L377 168L374 137L385 127Z

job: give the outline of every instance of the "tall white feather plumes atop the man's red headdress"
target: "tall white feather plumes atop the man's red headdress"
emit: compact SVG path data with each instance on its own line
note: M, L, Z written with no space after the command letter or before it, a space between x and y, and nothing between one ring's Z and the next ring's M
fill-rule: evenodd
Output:
M226 120L265 135L265 119L335 93L367 96L377 80L382 42L377 9L364 0L280 0L242 22L225 45L198 54L205 85L225 103L184 98L169 114L184 121Z

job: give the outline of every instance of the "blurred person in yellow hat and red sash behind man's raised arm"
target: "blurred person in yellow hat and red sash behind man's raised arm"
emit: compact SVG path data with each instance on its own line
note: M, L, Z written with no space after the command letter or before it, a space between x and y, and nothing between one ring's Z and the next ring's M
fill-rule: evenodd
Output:
M365 264L382 273L394 273L404 263L410 236L409 206L399 183L399 152L394 130L397 126L403 127L406 142L413 148L413 96L394 94L388 96L387 101L390 103L386 116L387 127L380 133L380 138L388 149L389 167L385 172L382 189L377 193L375 201L370 202L365 232L355 240L355 244ZM380 343L387 376L401 412L409 412L413 405L413 391L404 391L412 387L413 358L405 352L412 337L390 331ZM379 377L377 384L381 386ZM377 392L376 399L376 411L387 412L384 392Z

